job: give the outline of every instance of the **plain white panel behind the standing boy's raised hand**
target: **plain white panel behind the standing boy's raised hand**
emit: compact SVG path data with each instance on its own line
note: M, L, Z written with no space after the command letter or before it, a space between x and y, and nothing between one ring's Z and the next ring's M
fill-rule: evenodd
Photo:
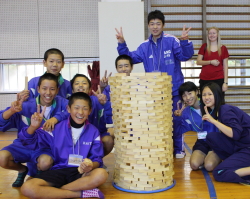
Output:
M99 2L99 58L100 76L105 70L117 73L115 59L118 56L115 28L122 27L130 51L144 41L143 2ZM144 72L143 64L134 65L133 72Z

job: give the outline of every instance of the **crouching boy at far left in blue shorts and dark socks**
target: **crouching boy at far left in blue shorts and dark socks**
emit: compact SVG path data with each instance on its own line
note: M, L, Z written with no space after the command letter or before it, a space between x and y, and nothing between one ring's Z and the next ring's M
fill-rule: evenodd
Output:
M30 118L37 110L40 104L46 108L43 117L43 126L46 130L53 130L54 125L64 119L67 119L68 100L57 95L58 82L57 77L53 74L46 73L40 77L38 82L38 93L36 99L23 102L15 101L10 108L0 111L0 131L6 131L10 128L17 128L21 131L23 127L30 125ZM19 138L15 139L12 144L4 147L0 151L0 166L5 169L18 171L18 177L13 183L13 187L20 187L28 173L31 176L36 175L39 171L48 170L53 163L53 156L49 149L30 151L25 148ZM28 163L28 168L21 163ZM31 162L31 163L30 163Z

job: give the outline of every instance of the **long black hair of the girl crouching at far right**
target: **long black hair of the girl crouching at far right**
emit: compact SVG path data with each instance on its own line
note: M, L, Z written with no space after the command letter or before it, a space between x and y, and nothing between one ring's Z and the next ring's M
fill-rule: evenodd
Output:
M206 85L203 86L203 88L201 90L202 91L201 96L202 96L202 93L203 93L203 90L205 87L208 87L214 95L213 116L217 117L220 106L225 104L225 99L223 97L221 87L217 83L214 83L214 82L207 83ZM202 113L202 115L206 114L205 110L204 110L204 106L205 106L205 104L202 100L201 101L201 113ZM208 108L208 111L211 112L212 111L211 108Z

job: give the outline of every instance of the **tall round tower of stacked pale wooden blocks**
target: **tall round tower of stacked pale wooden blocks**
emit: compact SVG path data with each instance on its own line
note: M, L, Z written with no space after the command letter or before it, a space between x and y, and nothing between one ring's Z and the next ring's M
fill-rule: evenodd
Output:
M155 191L173 184L172 84L167 73L109 78L115 134L114 184Z

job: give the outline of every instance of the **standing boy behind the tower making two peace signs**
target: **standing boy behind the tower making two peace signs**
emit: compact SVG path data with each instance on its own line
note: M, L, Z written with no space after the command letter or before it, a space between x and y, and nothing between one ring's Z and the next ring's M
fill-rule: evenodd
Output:
M148 15L148 29L151 35L135 51L129 51L122 28L120 31L116 29L116 38L118 40L117 50L119 55L129 55L134 64L143 62L146 72L167 72L168 75L172 76L174 112L177 109L177 102L181 100L178 88L184 81L180 61L189 60L194 54L194 48L192 42L188 40L188 32L191 28L186 30L186 26L184 25L179 40L173 35L164 34L164 24L165 17L161 11L155 10L150 12ZM175 121L175 116L173 116L174 154L176 158L183 158L185 156L184 143L182 141L182 134L176 131L177 126Z

